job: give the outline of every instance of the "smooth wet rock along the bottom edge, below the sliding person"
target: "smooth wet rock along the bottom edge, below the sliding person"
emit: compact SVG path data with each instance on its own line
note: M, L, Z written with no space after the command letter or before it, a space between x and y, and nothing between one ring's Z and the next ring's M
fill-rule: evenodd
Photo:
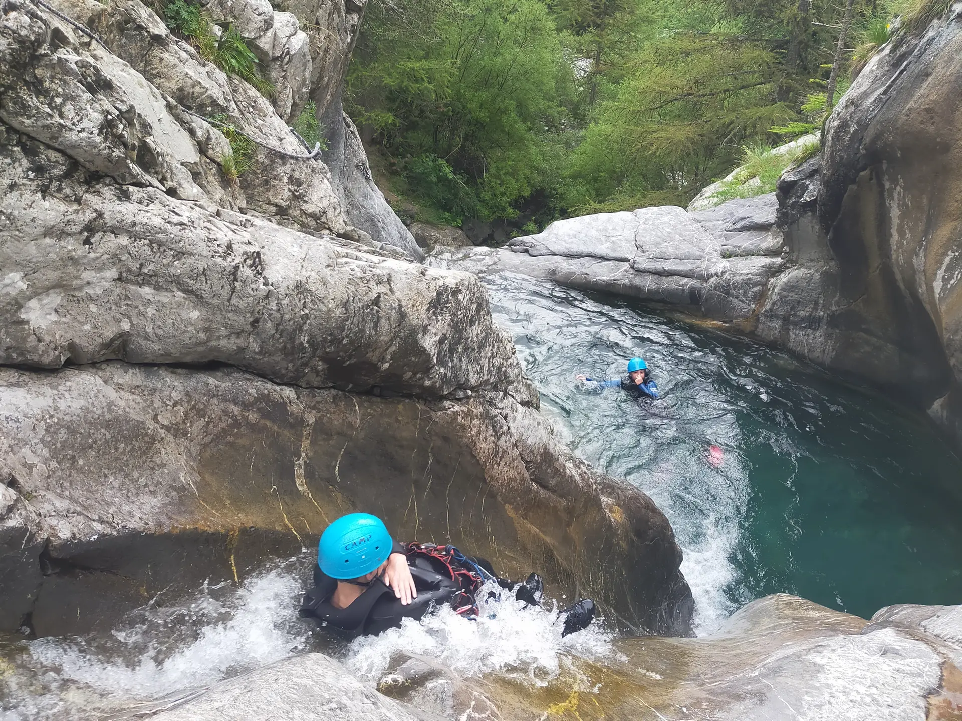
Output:
M377 684L379 693L367 690L358 703L371 713L394 709L398 718L950 721L962 709L960 644L960 607L896 606L867 622L774 595L704 638L622 639L603 662L567 658L560 675L544 684L496 674L466 678L435 660L399 653ZM300 684L318 667L337 687L352 681L330 659L294 657L215 685L183 705L175 701L177 708L157 717L206 718L225 709L224 718L239 718L245 701L258 709L262 697L273 697L271 684ZM281 678L291 683L277 682ZM338 708L318 684L305 685L300 699L294 707L280 700L271 717L296 720L312 717L303 715L309 706Z

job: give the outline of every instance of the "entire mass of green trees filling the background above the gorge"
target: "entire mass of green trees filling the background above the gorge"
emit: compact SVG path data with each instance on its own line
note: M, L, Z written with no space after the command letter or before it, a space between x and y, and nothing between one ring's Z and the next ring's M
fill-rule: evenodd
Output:
M888 40L894 16L940 3L855 0L846 71ZM821 125L845 5L372 3L347 109L401 191L453 224L685 205L744 147Z

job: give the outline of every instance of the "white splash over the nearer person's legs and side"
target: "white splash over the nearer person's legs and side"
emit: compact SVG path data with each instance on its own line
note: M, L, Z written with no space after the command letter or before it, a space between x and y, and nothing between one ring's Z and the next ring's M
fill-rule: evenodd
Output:
M564 619L556 606L525 608L510 591L486 584L494 598L480 604L476 621L444 607L419 623L405 619L400 628L353 641L346 666L369 683L377 683L397 654L437 660L462 677L497 672L524 683L543 685L558 676L566 657L609 658L614 635L597 620L584 631L561 637ZM548 602L545 601L545 604Z

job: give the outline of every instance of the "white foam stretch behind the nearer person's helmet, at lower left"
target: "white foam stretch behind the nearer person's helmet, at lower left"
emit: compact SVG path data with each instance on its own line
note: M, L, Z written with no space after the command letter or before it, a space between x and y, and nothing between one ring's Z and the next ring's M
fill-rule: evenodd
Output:
M303 651L311 627L297 618L304 583L295 565L256 574L239 587L205 585L182 605L148 605L106 638L30 642L24 661L35 681L23 684L25 698L0 718L96 717Z

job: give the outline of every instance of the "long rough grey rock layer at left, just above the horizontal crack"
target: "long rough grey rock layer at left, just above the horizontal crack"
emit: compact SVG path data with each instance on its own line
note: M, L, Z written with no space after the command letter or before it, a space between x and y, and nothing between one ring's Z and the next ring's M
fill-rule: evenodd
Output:
M537 402L467 274L153 188L85 185L63 155L16 137L0 159L2 363L216 360L299 385Z

